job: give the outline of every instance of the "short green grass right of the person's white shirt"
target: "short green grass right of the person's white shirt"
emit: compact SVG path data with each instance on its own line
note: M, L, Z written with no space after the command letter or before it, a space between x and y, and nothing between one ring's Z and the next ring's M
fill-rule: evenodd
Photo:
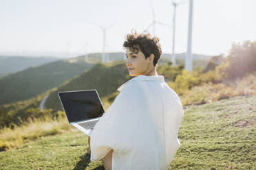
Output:
M254 169L256 96L186 110L170 169Z

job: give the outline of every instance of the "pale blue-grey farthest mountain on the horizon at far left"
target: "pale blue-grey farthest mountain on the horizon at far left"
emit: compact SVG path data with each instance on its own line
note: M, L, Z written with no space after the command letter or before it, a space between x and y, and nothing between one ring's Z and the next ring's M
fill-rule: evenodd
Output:
M51 57L25 57L25 56L0 56L0 77L17 71L28 69L30 66L40 66L49 62L60 60Z

